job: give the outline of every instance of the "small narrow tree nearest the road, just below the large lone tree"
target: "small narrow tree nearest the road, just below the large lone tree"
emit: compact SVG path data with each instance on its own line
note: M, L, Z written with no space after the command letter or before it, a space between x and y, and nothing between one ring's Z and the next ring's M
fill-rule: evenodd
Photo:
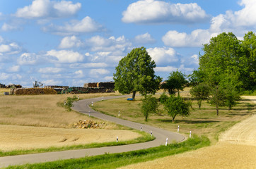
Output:
M145 121L148 120L150 113L156 113L158 111L158 102L156 97L152 95L147 95L142 99L141 104L141 113L143 113L145 117Z

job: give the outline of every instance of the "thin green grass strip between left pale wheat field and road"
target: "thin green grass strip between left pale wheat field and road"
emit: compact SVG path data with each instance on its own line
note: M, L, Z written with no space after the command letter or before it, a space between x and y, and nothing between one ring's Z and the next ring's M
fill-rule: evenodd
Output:
M74 150L74 149L91 149L98 148L104 146L120 146L126 144L135 144L141 142L149 142L155 137L151 137L151 134L146 132L140 132L137 130L133 130L134 132L138 132L141 134L141 137L136 139L123 141L123 142L105 142L105 143L92 143L92 144L79 144L74 146L62 146L62 147L50 147L47 149L28 149L28 150L14 150L14 151L0 151L0 156L16 156L21 154L37 154L37 153L46 153L46 152L54 152L54 151L66 151L66 150Z

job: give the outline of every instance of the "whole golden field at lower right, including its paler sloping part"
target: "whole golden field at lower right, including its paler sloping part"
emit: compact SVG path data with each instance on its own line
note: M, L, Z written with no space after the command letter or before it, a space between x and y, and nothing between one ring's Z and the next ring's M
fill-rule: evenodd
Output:
M256 96L246 96L256 104ZM221 134L214 146L124 168L256 168L256 115Z

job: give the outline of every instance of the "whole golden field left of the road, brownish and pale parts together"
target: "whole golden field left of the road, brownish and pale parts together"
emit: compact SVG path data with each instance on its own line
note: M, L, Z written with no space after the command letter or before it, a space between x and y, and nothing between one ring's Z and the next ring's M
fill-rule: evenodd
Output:
M80 99L110 94L79 94ZM112 95L112 94L111 94ZM78 120L90 118L75 111L66 111L64 100L76 95L0 96L0 151L38 149L50 146L71 146L92 142L115 142L135 139L140 135L126 127L104 122L103 129L74 129Z

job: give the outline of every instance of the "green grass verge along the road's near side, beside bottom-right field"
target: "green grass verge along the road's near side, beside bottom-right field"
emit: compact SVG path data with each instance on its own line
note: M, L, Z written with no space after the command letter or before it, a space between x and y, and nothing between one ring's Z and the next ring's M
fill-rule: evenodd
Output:
M145 161L152 161L156 158L180 154L185 151L192 151L204 146L209 146L210 141L207 137L198 137L193 135L191 139L179 143L168 144L168 146L158 146L151 149L142 149L138 151L129 151L121 154L103 154L100 156L90 156L78 159L69 159L62 161L54 161L48 163L26 164L9 166L8 169L13 168L118 168L132 163L141 163Z

